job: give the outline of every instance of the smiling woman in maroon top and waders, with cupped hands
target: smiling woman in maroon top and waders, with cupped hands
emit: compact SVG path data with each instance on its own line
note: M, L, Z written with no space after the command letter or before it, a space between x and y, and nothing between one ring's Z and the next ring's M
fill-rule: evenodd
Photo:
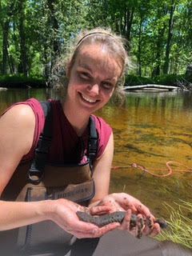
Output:
M36 170L36 163L30 166L32 158L45 160L47 155L44 154L47 148L40 149L41 136L38 141L45 121L41 104L35 99L18 102L0 118L0 241L5 255L13 255L13 250L14 255L20 255L21 251L27 255L46 251L51 252L49 255L56 252L64 255L76 243L74 237L98 238L117 228L134 236L138 233L154 236L160 231L150 210L136 198L108 194L113 133L93 113L106 105L112 94L121 91L128 62L122 40L106 30L91 30L79 37L66 62L66 96L62 103L50 100L49 164L43 166L42 160L34 161L41 162L38 166L43 166L39 169L44 176ZM57 69L61 65L60 62ZM94 138L97 148L92 157L92 149L87 146L92 139L90 122L98 135ZM49 134L44 137L47 138L44 141L49 141ZM40 146L34 154L37 143ZM90 214L126 210L126 217L122 224L114 222L98 227L79 220L76 212L85 209ZM137 214L139 220L133 230L130 230L131 214ZM78 252L80 255L79 249Z

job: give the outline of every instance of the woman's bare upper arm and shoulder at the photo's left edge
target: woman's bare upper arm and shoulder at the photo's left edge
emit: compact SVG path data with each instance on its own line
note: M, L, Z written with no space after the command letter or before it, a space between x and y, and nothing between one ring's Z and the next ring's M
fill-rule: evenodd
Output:
M0 118L0 195L22 157L30 151L35 118L30 106L18 105Z

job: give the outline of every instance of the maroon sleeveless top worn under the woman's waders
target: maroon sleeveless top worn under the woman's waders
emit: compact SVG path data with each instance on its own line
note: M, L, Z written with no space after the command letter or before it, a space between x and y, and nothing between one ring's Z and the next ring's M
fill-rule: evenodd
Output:
M55 164L85 162L87 143L89 138L88 127L82 137L79 138L73 127L70 125L70 122L66 118L66 115L62 110L61 102L58 100L49 101L51 102L51 108L53 111L52 142L50 146L49 161ZM22 158L22 162L26 162L34 157L34 149L37 145L39 135L41 134L42 128L44 126L45 118L42 106L35 98L30 98L26 100L26 102L17 102L12 106L18 104L29 105L34 111L35 116L33 145L30 149L30 152ZM102 118L96 117L94 115L92 115L92 117L94 118L95 126L98 131L98 152L96 154L96 158L98 158L104 152L112 130Z

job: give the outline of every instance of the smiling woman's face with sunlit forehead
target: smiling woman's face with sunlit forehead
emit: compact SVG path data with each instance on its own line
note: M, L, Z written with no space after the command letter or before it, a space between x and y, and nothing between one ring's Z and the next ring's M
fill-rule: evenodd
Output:
M118 59L102 45L82 46L71 70L66 102L87 114L109 101L122 72Z

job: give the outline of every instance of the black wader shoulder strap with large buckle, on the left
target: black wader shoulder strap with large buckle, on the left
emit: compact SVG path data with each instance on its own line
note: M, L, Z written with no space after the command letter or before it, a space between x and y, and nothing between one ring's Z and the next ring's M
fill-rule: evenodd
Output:
M30 179L30 182L33 184L38 184L42 180L46 166L46 159L50 150L52 134L52 116L50 102L40 103L42 105L42 110L45 115L45 124L42 133L39 136L38 144L34 151L34 159L28 172L28 178Z

